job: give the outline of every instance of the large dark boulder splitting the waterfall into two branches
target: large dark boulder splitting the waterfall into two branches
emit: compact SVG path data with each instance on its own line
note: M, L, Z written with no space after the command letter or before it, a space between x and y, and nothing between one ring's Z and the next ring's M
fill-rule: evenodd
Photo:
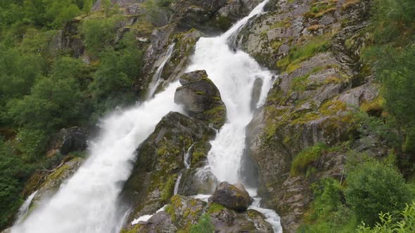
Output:
M208 79L205 70L189 72L181 76L181 87L174 94L174 102L183 105L189 116L208 121L220 128L226 121L226 107L219 90Z

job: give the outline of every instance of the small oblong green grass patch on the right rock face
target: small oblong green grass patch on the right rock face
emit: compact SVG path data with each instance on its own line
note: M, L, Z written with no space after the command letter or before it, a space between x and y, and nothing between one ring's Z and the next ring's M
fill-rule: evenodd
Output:
M297 154L293 159L293 163L291 164L291 171L290 175L300 175L301 173L305 173L307 168L310 164L314 163L321 157L321 154L324 152L327 146L324 143L318 143L313 147L308 147L304 149L302 152Z

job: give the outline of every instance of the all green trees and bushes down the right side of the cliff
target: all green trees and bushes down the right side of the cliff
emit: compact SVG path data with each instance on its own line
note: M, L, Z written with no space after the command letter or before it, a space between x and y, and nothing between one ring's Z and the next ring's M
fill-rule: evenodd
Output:
M384 101L381 108L362 105L358 131L381 138L390 154L379 161L350 151L345 180L315 183L299 232L414 231L415 5L377 0L372 11L362 62L373 67Z

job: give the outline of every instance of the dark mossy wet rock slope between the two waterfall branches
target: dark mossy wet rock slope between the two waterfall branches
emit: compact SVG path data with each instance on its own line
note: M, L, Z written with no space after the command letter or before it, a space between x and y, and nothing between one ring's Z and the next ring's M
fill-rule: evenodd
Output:
M132 175L122 200L132 206L129 220L155 213L173 194L184 154L196 142L208 142L215 131L207 123L178 112L162 118L155 131L136 150Z

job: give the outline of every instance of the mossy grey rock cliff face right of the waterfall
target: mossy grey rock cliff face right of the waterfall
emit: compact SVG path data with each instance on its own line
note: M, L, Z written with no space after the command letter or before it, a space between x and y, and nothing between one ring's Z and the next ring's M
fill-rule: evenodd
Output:
M277 210L287 232L300 225L312 200L311 183L340 179L345 164L342 149L300 173L293 171L293 158L318 143L334 147L355 138L353 112L376 111L378 88L359 63L370 4L272 1L276 10L250 22L236 39L239 48L281 72L248 126L247 145L264 204Z

